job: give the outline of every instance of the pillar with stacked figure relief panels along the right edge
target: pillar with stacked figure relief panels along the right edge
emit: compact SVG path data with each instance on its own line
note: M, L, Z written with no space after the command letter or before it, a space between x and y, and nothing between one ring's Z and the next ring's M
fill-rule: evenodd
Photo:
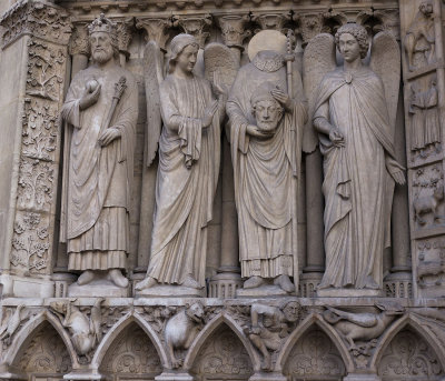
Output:
M442 7L441 0L399 1L414 298L445 292Z

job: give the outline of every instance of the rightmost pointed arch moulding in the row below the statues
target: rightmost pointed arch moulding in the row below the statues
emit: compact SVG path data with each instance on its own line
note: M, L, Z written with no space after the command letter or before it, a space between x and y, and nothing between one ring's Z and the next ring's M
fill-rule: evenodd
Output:
M382 335L380 344L376 348L376 351L369 362L370 369L377 372L378 364L380 363L382 357L388 345L399 332L407 328L411 328L432 347L433 351L437 355L442 369L445 371L445 348L443 348L443 344L437 340L435 335L431 334L423 327L421 319L416 318L412 313L405 314L403 318L395 321Z

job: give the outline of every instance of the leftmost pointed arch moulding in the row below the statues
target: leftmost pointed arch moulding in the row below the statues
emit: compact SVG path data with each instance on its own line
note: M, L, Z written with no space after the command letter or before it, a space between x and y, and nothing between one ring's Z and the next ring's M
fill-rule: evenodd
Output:
M20 360L19 357L22 352L22 349L30 342L30 340L32 340L34 333L38 332L39 329L42 327L42 324L44 324L46 322L49 323L56 330L56 332L62 340L70 355L72 369L79 368L76 350L72 345L68 332L60 323L59 319L55 317L52 313L50 313L48 310L38 313L30 321L28 321L23 325L23 328L18 332L16 338L12 340L10 347L11 350L7 353L4 358L4 363L7 365L11 365Z

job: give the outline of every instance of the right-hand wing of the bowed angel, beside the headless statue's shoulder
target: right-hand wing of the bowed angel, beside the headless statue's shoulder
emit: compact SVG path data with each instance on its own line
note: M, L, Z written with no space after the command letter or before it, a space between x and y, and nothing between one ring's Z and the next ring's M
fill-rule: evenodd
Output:
M209 43L204 50L205 78L214 83L217 73L221 82L230 90L239 69L235 54L222 43Z

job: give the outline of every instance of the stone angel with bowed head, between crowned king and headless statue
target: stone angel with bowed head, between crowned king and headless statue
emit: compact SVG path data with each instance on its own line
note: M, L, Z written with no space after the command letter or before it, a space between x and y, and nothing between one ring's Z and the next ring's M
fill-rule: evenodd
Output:
M146 51L146 64L152 66L146 68L149 160L156 153L160 116L164 129L159 139L150 262L146 279L136 287L139 291L160 284L178 284L186 290L205 285L207 224L212 218L219 174L219 124L227 89L217 73L212 87L194 73L198 49L190 34L178 34L171 40L169 74L159 91L160 51L154 41Z

